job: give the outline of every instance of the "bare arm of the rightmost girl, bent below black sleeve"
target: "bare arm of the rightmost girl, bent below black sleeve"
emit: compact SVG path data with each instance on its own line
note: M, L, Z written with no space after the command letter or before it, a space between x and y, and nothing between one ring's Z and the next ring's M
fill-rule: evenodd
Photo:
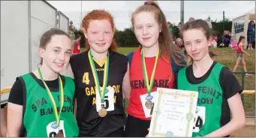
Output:
M224 125L223 127L213 131L210 134L207 134L204 137L225 137L245 127L245 111L242 107L242 100L239 93L237 92L236 95L228 98L227 103L232 114L231 121L228 122L227 125Z

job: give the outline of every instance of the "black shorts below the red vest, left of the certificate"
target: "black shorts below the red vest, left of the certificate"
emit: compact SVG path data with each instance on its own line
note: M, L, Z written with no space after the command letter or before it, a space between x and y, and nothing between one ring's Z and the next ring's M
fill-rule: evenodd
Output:
M150 120L137 119L128 115L125 125L125 137L146 137L149 134Z

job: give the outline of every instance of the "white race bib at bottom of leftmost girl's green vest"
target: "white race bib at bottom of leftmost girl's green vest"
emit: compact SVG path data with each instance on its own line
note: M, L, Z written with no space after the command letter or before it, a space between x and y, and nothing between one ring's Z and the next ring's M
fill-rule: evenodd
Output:
M59 127L57 125L57 122L50 122L49 125L47 125L47 136L48 137L55 137L58 132L62 130L64 137L66 137L65 129L64 129L64 121L61 120L59 123Z

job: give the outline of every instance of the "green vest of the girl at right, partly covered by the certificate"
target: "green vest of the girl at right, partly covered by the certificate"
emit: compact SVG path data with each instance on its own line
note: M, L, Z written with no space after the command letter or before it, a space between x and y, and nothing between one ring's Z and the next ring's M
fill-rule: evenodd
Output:
M221 104L224 95L219 84L219 75L223 67L220 63L216 63L208 78L200 84L188 82L185 73L188 67L179 71L178 89L198 92L192 137L203 137L221 128Z

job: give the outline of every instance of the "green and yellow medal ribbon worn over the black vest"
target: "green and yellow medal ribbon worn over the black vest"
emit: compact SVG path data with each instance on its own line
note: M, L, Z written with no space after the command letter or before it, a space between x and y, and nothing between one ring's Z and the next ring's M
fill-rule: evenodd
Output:
M107 60L104 63L104 77L103 77L102 90L101 90L101 87L100 87L100 83L98 81L98 73L97 73L96 68L95 68L95 63L93 61L91 50L88 51L88 57L89 57L89 62L90 62L91 68L92 68L92 75L93 75L93 78L95 80L95 85L96 85L96 88L98 89L98 92L101 96L101 103L104 103L104 97L105 97L106 89L107 89L107 79L108 79L108 68L109 68L110 54L109 53L107 54Z

